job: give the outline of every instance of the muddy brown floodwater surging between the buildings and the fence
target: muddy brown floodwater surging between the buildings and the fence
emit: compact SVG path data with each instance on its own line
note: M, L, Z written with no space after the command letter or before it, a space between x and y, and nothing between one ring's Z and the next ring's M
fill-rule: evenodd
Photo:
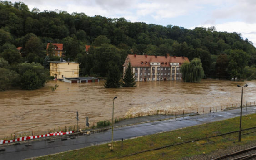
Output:
M55 91L50 86L58 84ZM191 109L220 106L243 101L256 101L256 81L232 82L207 79L200 83L183 81L137 82L137 87L107 89L104 81L70 84L50 81L45 87L34 90L0 92L0 135L21 131L47 130L80 122L111 119L112 100L115 99L115 116L157 109Z

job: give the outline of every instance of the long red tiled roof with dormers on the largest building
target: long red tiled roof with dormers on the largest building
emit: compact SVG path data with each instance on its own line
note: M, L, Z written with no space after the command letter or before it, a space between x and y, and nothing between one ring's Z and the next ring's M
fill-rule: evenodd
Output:
M156 62L156 63L160 63L161 67L170 67L169 63L182 64L185 61L189 61L189 59L187 57L171 57L171 56L156 57L156 56L148 56L148 55L129 54L125 60L124 66L127 64L127 62L130 62L131 66L133 67L150 67L149 62Z

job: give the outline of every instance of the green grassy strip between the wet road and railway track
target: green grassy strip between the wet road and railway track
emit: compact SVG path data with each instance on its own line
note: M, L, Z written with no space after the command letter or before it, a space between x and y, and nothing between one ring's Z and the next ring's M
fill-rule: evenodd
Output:
M256 126L256 114L243 116L242 127L249 128ZM65 153L49 155L37 158L36 160L102 160L102 159L121 159L121 160L165 160L181 159L194 155L206 155L217 149L226 149L230 146L244 145L256 140L256 134L250 133L242 135L241 142L238 141L238 132L225 136L216 136L226 132L237 131L239 129L239 117L224 121L217 121L200 126L187 127L175 131L143 136L114 143L114 151L111 152L108 145L98 145L80 150L73 150ZM256 131L256 129L243 131L242 134ZM206 138L200 141L196 139ZM181 145L175 145L164 149L144 152L136 155L121 157L131 153L150 150L157 147L193 141Z

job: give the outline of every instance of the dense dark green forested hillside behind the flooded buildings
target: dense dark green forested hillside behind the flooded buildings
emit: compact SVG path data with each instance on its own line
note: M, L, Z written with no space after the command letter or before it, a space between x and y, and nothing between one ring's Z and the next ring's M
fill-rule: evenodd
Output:
M239 33L89 17L86 10L30 12L24 3L0 2L0 57L9 65L43 64L49 42L63 43L65 58L81 63L80 75L106 76L112 63L121 70L127 54L169 54L200 58L208 78L256 78L256 48ZM93 46L88 53L85 45ZM22 56L17 47L22 47Z

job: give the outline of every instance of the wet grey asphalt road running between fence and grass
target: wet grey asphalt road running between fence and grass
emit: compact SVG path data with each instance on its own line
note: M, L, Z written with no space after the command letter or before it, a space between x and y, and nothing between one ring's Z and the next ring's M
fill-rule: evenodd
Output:
M248 107L248 113L255 113L256 107ZM245 109L243 109L243 115ZM156 121L132 126L124 126L114 129L114 141L129 139L132 137L151 135L163 131L171 131L188 126L200 125L213 121L220 121L240 116L240 109L215 112L214 114L204 114L196 116L186 116L165 121ZM103 144L111 141L111 130L95 133L87 136L78 136L76 139L68 138L66 141L60 139L53 143L48 141L33 141L31 146L10 145L5 147L5 151L0 152L0 160L22 160L25 158L49 155L67 150L79 149L87 146ZM0 147L1 148L1 147Z

